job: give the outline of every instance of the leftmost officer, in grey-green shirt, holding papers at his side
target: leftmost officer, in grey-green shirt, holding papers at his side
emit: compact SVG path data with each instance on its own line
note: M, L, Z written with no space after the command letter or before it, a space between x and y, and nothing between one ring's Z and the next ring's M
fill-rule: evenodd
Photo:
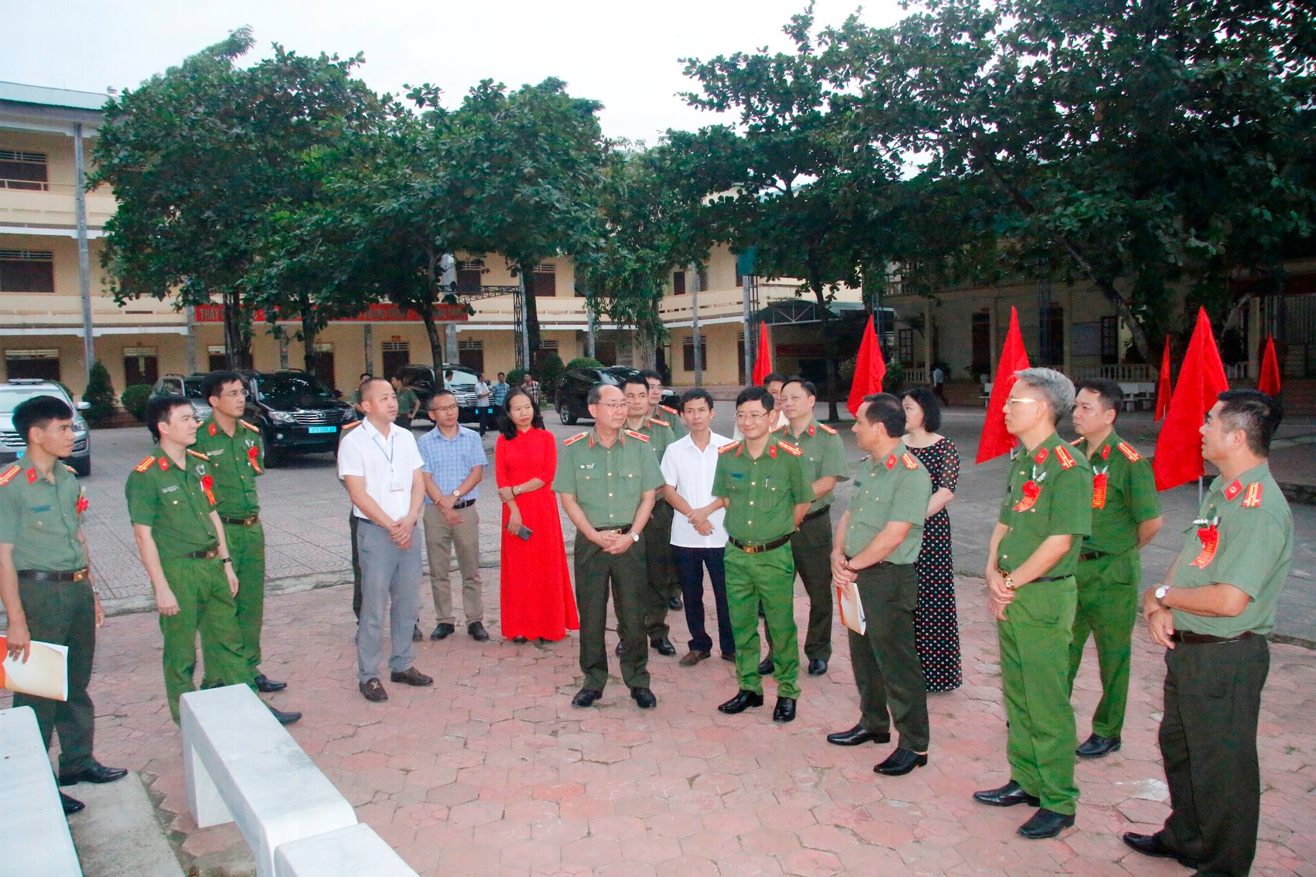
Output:
M0 469L0 602L9 618L8 653L26 661L33 639L68 647L68 698L16 692L13 705L37 714L47 748L59 731L59 785L113 782L128 770L107 768L92 755L96 713L87 684L105 610L80 526L87 500L78 476L59 462L74 451L74 413L61 398L34 396L13 409L13 429L28 448ZM63 793L59 799L64 813L86 806Z

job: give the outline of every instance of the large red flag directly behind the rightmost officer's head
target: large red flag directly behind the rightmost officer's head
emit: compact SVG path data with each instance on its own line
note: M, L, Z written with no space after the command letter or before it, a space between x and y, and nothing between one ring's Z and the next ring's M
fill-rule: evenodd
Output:
M1211 334L1207 309L1198 309L1198 325L1188 342L1188 352L1179 366L1179 380L1170 397L1170 410L1155 439L1155 489L1169 490L1192 481L1205 472L1202 463L1202 435L1198 430L1216 397L1229 389L1225 367L1220 362L1216 338Z

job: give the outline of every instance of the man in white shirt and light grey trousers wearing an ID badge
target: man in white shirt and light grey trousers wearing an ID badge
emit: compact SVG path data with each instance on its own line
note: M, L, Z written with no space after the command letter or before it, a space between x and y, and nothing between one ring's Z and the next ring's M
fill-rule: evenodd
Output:
M357 627L357 681L367 701L387 701L379 682L383 619L390 610L391 680L432 685L415 667L412 631L420 621L421 556L416 522L425 501L424 460L411 430L393 425L397 394L375 377L361 385L365 422L338 446L338 477L347 485L358 518L361 623Z

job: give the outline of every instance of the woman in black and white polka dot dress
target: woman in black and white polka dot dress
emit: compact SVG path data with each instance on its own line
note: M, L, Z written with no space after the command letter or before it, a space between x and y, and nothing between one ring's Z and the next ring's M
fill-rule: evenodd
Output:
M950 515L946 504L955 496L959 480L959 451L945 435L938 435L941 408L926 387L904 393L905 447L932 476L932 501L923 523L923 550L919 571L919 610L915 613L915 639L923 677L929 692L959 688L959 621L955 614L955 564L950 551Z

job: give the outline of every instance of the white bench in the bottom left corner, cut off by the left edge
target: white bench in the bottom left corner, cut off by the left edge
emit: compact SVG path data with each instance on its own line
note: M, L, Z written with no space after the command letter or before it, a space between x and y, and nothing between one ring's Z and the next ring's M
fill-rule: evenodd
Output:
M0 710L0 866L22 877L82 877L50 756L30 706Z

